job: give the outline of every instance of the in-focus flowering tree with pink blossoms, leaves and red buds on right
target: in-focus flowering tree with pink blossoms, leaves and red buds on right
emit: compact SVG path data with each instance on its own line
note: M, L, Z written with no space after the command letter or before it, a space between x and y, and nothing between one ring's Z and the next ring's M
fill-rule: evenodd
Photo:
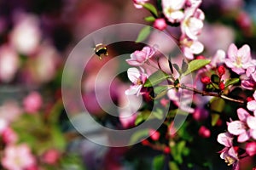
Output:
M142 140L145 147L162 152L154 158L157 169L166 167L166 160L171 169L255 168L256 60L252 52L255 47L246 42L239 43L241 45L230 42L225 50L217 48L216 54L208 54L205 40L201 37L207 18L203 8L207 7L201 8L201 4L200 0L141 3L152 14L145 20L172 37L184 59L179 62L167 57L164 63L159 59L157 49L149 46L135 51L131 59L126 60L128 65L137 68L127 71L132 85L125 94L142 95L146 105L159 102L168 107L163 125L149 129L151 137ZM238 19L236 22L244 24ZM242 26L237 29L249 31L253 27ZM148 35L150 31L143 29L137 41L143 41ZM155 54L150 51L155 51ZM168 71L161 65L167 65ZM149 70L147 76L143 76L145 69ZM184 81L187 75L195 77L193 84ZM185 97L187 92L193 96L188 97L191 105ZM147 107L140 110L135 126L147 121L147 112ZM175 116L184 112L189 114L187 121L177 133L172 133ZM200 157L199 160L196 157ZM214 163L221 159L227 167L224 163Z

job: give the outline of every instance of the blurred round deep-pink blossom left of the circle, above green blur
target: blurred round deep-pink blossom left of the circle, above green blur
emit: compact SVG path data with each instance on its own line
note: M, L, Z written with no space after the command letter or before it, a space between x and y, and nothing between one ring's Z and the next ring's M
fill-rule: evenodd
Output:
M23 105L27 113L36 113L43 105L43 100L38 92L32 92L23 100Z

